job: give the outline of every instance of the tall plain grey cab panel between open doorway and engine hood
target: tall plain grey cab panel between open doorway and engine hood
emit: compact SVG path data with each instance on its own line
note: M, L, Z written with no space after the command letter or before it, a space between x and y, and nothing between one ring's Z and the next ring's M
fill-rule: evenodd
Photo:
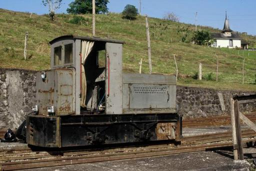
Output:
M122 44L106 43L105 111L122 113Z

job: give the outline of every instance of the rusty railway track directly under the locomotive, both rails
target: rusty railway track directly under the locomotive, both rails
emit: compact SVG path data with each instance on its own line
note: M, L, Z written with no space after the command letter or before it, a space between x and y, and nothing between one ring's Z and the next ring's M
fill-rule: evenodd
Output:
M256 132L243 130L242 137L243 142L255 141ZM33 151L28 146L0 148L0 168L1 170L28 169L203 151L232 146L231 138L231 131L225 131L183 137L178 145L171 143L142 147L108 148L104 150L75 149L62 151Z

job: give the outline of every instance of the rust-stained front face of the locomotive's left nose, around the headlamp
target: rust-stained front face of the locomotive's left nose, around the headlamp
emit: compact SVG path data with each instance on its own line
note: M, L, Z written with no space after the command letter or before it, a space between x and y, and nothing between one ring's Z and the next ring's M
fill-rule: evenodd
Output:
M41 72L36 73L36 104L40 115L47 115L47 106L54 105L54 71L45 71L46 78L41 78Z

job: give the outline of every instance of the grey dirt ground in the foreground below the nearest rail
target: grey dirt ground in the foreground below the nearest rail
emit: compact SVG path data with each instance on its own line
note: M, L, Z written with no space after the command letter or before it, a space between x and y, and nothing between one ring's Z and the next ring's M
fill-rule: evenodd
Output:
M221 151L190 152L168 156L148 157L118 161L94 162L56 167L28 169L29 171L68 171L68 170L249 170L247 161L234 161L231 153Z

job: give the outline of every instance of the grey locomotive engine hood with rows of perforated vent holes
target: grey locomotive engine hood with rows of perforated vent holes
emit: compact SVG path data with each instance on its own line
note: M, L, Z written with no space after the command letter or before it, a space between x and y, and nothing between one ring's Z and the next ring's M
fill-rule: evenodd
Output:
M123 74L123 113L175 113L176 80L173 75Z

